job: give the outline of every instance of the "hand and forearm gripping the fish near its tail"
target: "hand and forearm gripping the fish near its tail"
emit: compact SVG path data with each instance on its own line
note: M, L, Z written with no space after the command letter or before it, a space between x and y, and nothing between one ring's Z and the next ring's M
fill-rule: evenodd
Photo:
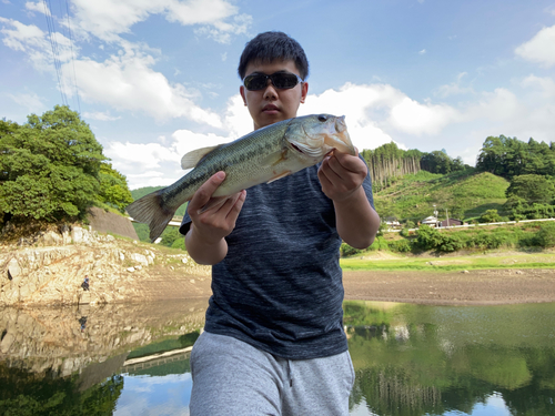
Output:
M185 235L185 246L191 257L199 264L214 265L225 257L228 254L225 236L235 227L235 221L243 207L245 191L230 196L222 205L199 212L211 200L224 179L224 172L215 173L199 187L189 202L188 212L192 224Z

